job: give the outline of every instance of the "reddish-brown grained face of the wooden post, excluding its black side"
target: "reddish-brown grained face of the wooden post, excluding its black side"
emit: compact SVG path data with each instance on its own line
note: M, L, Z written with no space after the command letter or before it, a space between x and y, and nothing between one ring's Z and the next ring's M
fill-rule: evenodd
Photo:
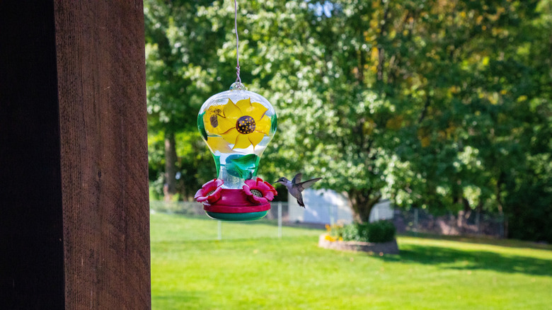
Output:
M65 309L150 309L141 1L54 1Z

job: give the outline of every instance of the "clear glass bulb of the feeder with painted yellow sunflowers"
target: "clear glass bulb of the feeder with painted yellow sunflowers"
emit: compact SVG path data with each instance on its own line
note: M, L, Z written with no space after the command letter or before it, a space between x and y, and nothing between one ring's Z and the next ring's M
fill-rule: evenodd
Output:
M245 180L257 176L260 156L276 132L277 117L266 98L236 82L229 91L203 103L197 127L213 154L222 187L241 189Z

